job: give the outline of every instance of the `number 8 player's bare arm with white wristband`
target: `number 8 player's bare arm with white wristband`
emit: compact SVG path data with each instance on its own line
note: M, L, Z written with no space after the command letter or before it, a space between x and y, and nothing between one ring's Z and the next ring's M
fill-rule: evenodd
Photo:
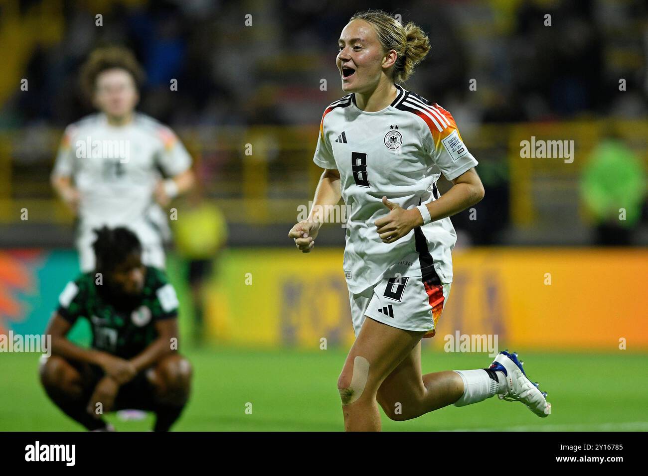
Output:
M452 187L439 199L426 204L432 221L457 214L478 203L484 196L484 188L474 167L456 179ZM382 203L388 207L389 214L376 220L376 231L384 243L393 243L408 234L415 227L423 225L421 212L417 209L404 210L386 197Z

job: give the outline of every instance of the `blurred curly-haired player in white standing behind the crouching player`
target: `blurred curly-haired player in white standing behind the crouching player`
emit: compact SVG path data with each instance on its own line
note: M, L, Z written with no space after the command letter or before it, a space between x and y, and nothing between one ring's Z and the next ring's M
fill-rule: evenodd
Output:
M94 268L92 230L102 225L131 229L143 262L163 268L170 231L160 205L194 181L191 156L176 134L135 112L142 81L132 52L120 47L95 50L82 67L84 93L99 112L66 128L51 176L78 218L82 271Z

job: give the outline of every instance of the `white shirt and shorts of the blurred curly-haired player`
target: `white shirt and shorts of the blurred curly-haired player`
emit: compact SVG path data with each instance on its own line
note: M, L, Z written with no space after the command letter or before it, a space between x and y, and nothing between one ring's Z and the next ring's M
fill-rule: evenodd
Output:
M80 194L76 247L82 271L95 266L94 228L124 226L143 246L143 262L163 268L170 238L167 215L154 200L161 172L173 177L191 167L191 155L167 126L142 113L111 126L96 113L68 126L53 176L73 177Z

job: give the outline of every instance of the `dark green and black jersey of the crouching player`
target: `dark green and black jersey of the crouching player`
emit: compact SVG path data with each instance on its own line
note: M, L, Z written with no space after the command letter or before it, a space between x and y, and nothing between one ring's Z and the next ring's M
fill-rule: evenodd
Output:
M137 356L157 337L156 321L178 316L178 298L164 271L146 267L144 289L139 297L113 302L95 273L84 273L67 283L58 299L58 314L74 324L87 319L92 347L114 356Z

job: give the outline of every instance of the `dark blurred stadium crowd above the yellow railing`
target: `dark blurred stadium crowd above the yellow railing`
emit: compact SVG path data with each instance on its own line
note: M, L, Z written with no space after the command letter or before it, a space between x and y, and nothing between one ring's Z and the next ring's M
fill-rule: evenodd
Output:
M0 32L9 35L9 27L19 24L30 41L5 52L6 76L12 80L0 85L0 128L23 128L34 141L39 128L63 128L88 113L76 74L102 45L135 52L147 77L139 110L178 131L314 125L321 102L341 96L330 59L337 40L333 25L346 21L355 8L336 1L263 5L245 18L237 3L226 1L106 1L97 27L98 12L86 4L17 2L3 12ZM391 6L372 3L372 8ZM487 124L642 119L648 112L647 45L642 42L647 27L641 21L647 8L641 1L612 0L404 1L397 11L416 18L433 39L430 58L406 87L452 110L467 137ZM49 27L42 29L44 16ZM23 76L31 81L29 95L14 87ZM625 80L623 91L619 78ZM326 91L319 87L323 79ZM170 91L171 80L178 81L177 91ZM471 80L476 80L474 90ZM507 144L507 137L498 140ZM511 207L513 180L505 152L475 150L489 190L488 203L479 209L487 220L469 223L459 215L457 229L474 244L515 242L503 232L509 213L502 210ZM195 159L198 172L211 183L232 167L228 160L240 157L198 154ZM14 160L29 158L16 155ZM284 155L275 162L271 179L290 167ZM214 188L206 192L222 195ZM638 225L647 221L645 200L641 216ZM594 230L596 224L586 226Z

